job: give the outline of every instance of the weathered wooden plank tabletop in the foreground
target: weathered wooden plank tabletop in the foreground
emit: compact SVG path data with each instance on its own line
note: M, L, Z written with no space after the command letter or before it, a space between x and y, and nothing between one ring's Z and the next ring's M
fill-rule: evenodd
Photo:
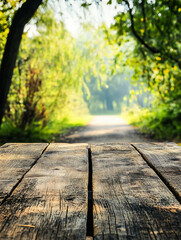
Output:
M174 143L0 147L0 239L181 239Z

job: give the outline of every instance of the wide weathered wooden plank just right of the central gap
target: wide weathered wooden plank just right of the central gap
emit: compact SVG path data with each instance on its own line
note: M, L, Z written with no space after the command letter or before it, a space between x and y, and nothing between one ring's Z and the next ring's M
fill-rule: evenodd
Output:
M92 145L94 239L181 239L181 207L128 144Z

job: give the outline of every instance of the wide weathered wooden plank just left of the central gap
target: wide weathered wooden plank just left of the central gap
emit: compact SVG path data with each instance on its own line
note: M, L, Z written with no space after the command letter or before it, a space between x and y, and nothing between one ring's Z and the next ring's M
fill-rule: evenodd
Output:
M0 239L86 239L87 145L50 144L0 208Z

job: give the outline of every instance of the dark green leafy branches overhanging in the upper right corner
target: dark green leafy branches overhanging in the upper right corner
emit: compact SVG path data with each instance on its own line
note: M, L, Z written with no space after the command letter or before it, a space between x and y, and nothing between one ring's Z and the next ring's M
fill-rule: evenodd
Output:
M181 68L180 1L118 0L125 11L115 17L118 35L131 34L142 57L155 55L161 62L170 61Z

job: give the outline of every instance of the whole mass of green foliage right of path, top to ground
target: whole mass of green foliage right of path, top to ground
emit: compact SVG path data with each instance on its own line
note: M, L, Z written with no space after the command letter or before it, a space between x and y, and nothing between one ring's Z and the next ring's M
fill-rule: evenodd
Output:
M179 138L180 1L117 2L124 6L124 11L115 17L115 41L119 46L125 46L125 42L132 42L134 46L133 50L127 48L126 58L118 57L117 61L124 60L124 64L133 71L132 82L142 85L149 93L147 108L134 106L129 115L130 122L157 138ZM137 98L135 91L130 97L133 105Z

